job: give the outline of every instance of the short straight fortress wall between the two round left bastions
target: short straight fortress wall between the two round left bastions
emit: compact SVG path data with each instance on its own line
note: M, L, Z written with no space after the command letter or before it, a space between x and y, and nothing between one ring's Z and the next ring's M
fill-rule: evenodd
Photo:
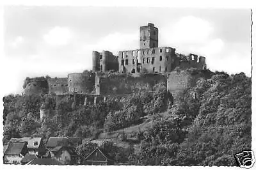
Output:
M49 93L63 94L68 92L67 78L53 78L48 79Z

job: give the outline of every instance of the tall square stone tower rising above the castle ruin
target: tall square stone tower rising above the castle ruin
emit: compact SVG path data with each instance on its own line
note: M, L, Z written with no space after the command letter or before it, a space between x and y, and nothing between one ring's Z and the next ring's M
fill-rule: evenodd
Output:
M158 28L154 24L140 27L140 49L158 47Z

